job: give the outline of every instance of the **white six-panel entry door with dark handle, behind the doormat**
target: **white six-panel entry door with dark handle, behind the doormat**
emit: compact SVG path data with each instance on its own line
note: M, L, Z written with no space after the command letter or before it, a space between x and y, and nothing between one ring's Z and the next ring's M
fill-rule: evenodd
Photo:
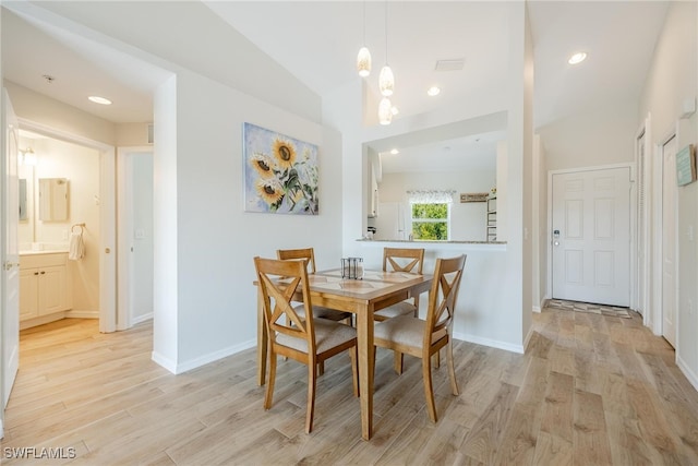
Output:
M630 169L553 175L553 298L628 307Z

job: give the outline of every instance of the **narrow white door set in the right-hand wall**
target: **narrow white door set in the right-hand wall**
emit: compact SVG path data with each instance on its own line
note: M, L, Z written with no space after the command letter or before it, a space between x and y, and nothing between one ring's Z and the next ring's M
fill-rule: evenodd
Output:
M676 138L662 147L662 335L676 346Z

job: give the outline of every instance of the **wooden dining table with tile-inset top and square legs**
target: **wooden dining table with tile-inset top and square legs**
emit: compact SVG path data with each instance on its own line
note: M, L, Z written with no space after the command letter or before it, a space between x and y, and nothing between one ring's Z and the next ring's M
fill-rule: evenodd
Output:
M362 279L342 278L341 270L309 274L311 300L357 315L359 353L359 394L361 403L361 437L373 435L373 313L396 302L429 291L432 275L405 272L364 271ZM267 335L264 308L257 286L257 383L266 381Z

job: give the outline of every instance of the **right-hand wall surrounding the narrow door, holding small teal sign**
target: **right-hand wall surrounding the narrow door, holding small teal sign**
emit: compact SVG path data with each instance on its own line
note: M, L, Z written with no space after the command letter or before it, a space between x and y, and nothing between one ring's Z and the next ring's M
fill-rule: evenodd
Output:
M642 92L638 111L638 121L651 115L652 147L657 147L670 133L677 131L677 147L698 142L698 116L679 119L683 103L698 96L698 4L696 2L672 2L664 29L657 44L654 57ZM659 187L661 172L658 170L659 151L650 154L652 186ZM659 223L661 195L654 191L650 218ZM698 247L690 231L698 227L698 183L678 188L678 330L676 362L682 371L698 389ZM657 229L651 238L652 249L661 251L661 237ZM657 258L657 255L653 255ZM655 261L657 262L657 261ZM650 302L661 302L661 264L655 263L652 271ZM651 306L654 322L660 323L660 309ZM655 332L661 332L658 326Z

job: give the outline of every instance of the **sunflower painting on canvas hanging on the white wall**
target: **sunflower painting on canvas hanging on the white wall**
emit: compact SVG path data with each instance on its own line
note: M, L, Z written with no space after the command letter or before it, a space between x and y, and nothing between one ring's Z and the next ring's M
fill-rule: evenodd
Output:
M248 212L317 215L317 146L244 123Z

